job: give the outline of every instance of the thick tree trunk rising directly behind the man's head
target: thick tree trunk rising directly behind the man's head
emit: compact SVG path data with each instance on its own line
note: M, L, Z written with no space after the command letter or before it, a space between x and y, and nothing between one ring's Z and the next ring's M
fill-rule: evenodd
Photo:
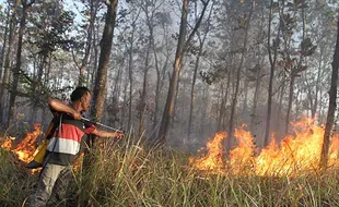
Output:
M91 113L96 121L100 121L104 112L104 101L106 94L107 71L110 60L113 35L115 27L115 20L117 15L118 0L106 1L107 13L105 17L105 27L101 40L101 54L98 60L97 73L93 90L94 105ZM94 139L93 139L94 142Z

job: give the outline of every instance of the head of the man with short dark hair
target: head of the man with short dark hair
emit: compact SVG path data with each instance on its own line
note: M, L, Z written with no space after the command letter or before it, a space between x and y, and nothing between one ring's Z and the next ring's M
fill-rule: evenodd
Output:
M87 111L91 106L91 92L86 87L77 87L71 94L71 101L81 108L81 111Z

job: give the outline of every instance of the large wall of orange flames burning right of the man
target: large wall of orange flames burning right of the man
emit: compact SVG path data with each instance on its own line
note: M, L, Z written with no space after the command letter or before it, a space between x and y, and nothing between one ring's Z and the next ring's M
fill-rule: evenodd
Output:
M314 120L311 119L303 119L292 125L293 135L284 137L280 145L277 145L276 138L272 138L259 155L256 155L254 137L244 130L245 125L235 129L234 136L237 145L229 151L229 160L225 160L229 163L227 168L224 168L225 163L219 156L222 155L223 148L219 135L215 134L214 141L208 143L208 148L212 151L199 159L190 158L190 163L196 169L208 173L215 173L214 169L223 169L222 173L238 175L297 175L319 170L325 129L314 124ZM339 135L334 135L329 148L328 166L339 167L338 156ZM210 167L209 160L215 157L218 161L211 161L213 166Z

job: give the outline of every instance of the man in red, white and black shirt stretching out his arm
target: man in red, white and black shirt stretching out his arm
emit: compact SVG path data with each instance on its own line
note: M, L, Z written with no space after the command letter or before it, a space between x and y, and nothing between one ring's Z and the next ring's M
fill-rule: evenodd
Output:
M101 131L91 123L81 121L82 113L91 106L91 92L86 87L78 87L71 94L71 104L66 105L58 99L49 99L48 106L54 113L58 127L52 132L44 168L40 172L36 194L30 202L31 206L46 206L52 191L58 195L65 192L72 176L72 165L80 151L80 143L85 134L100 137L122 137L121 132Z

